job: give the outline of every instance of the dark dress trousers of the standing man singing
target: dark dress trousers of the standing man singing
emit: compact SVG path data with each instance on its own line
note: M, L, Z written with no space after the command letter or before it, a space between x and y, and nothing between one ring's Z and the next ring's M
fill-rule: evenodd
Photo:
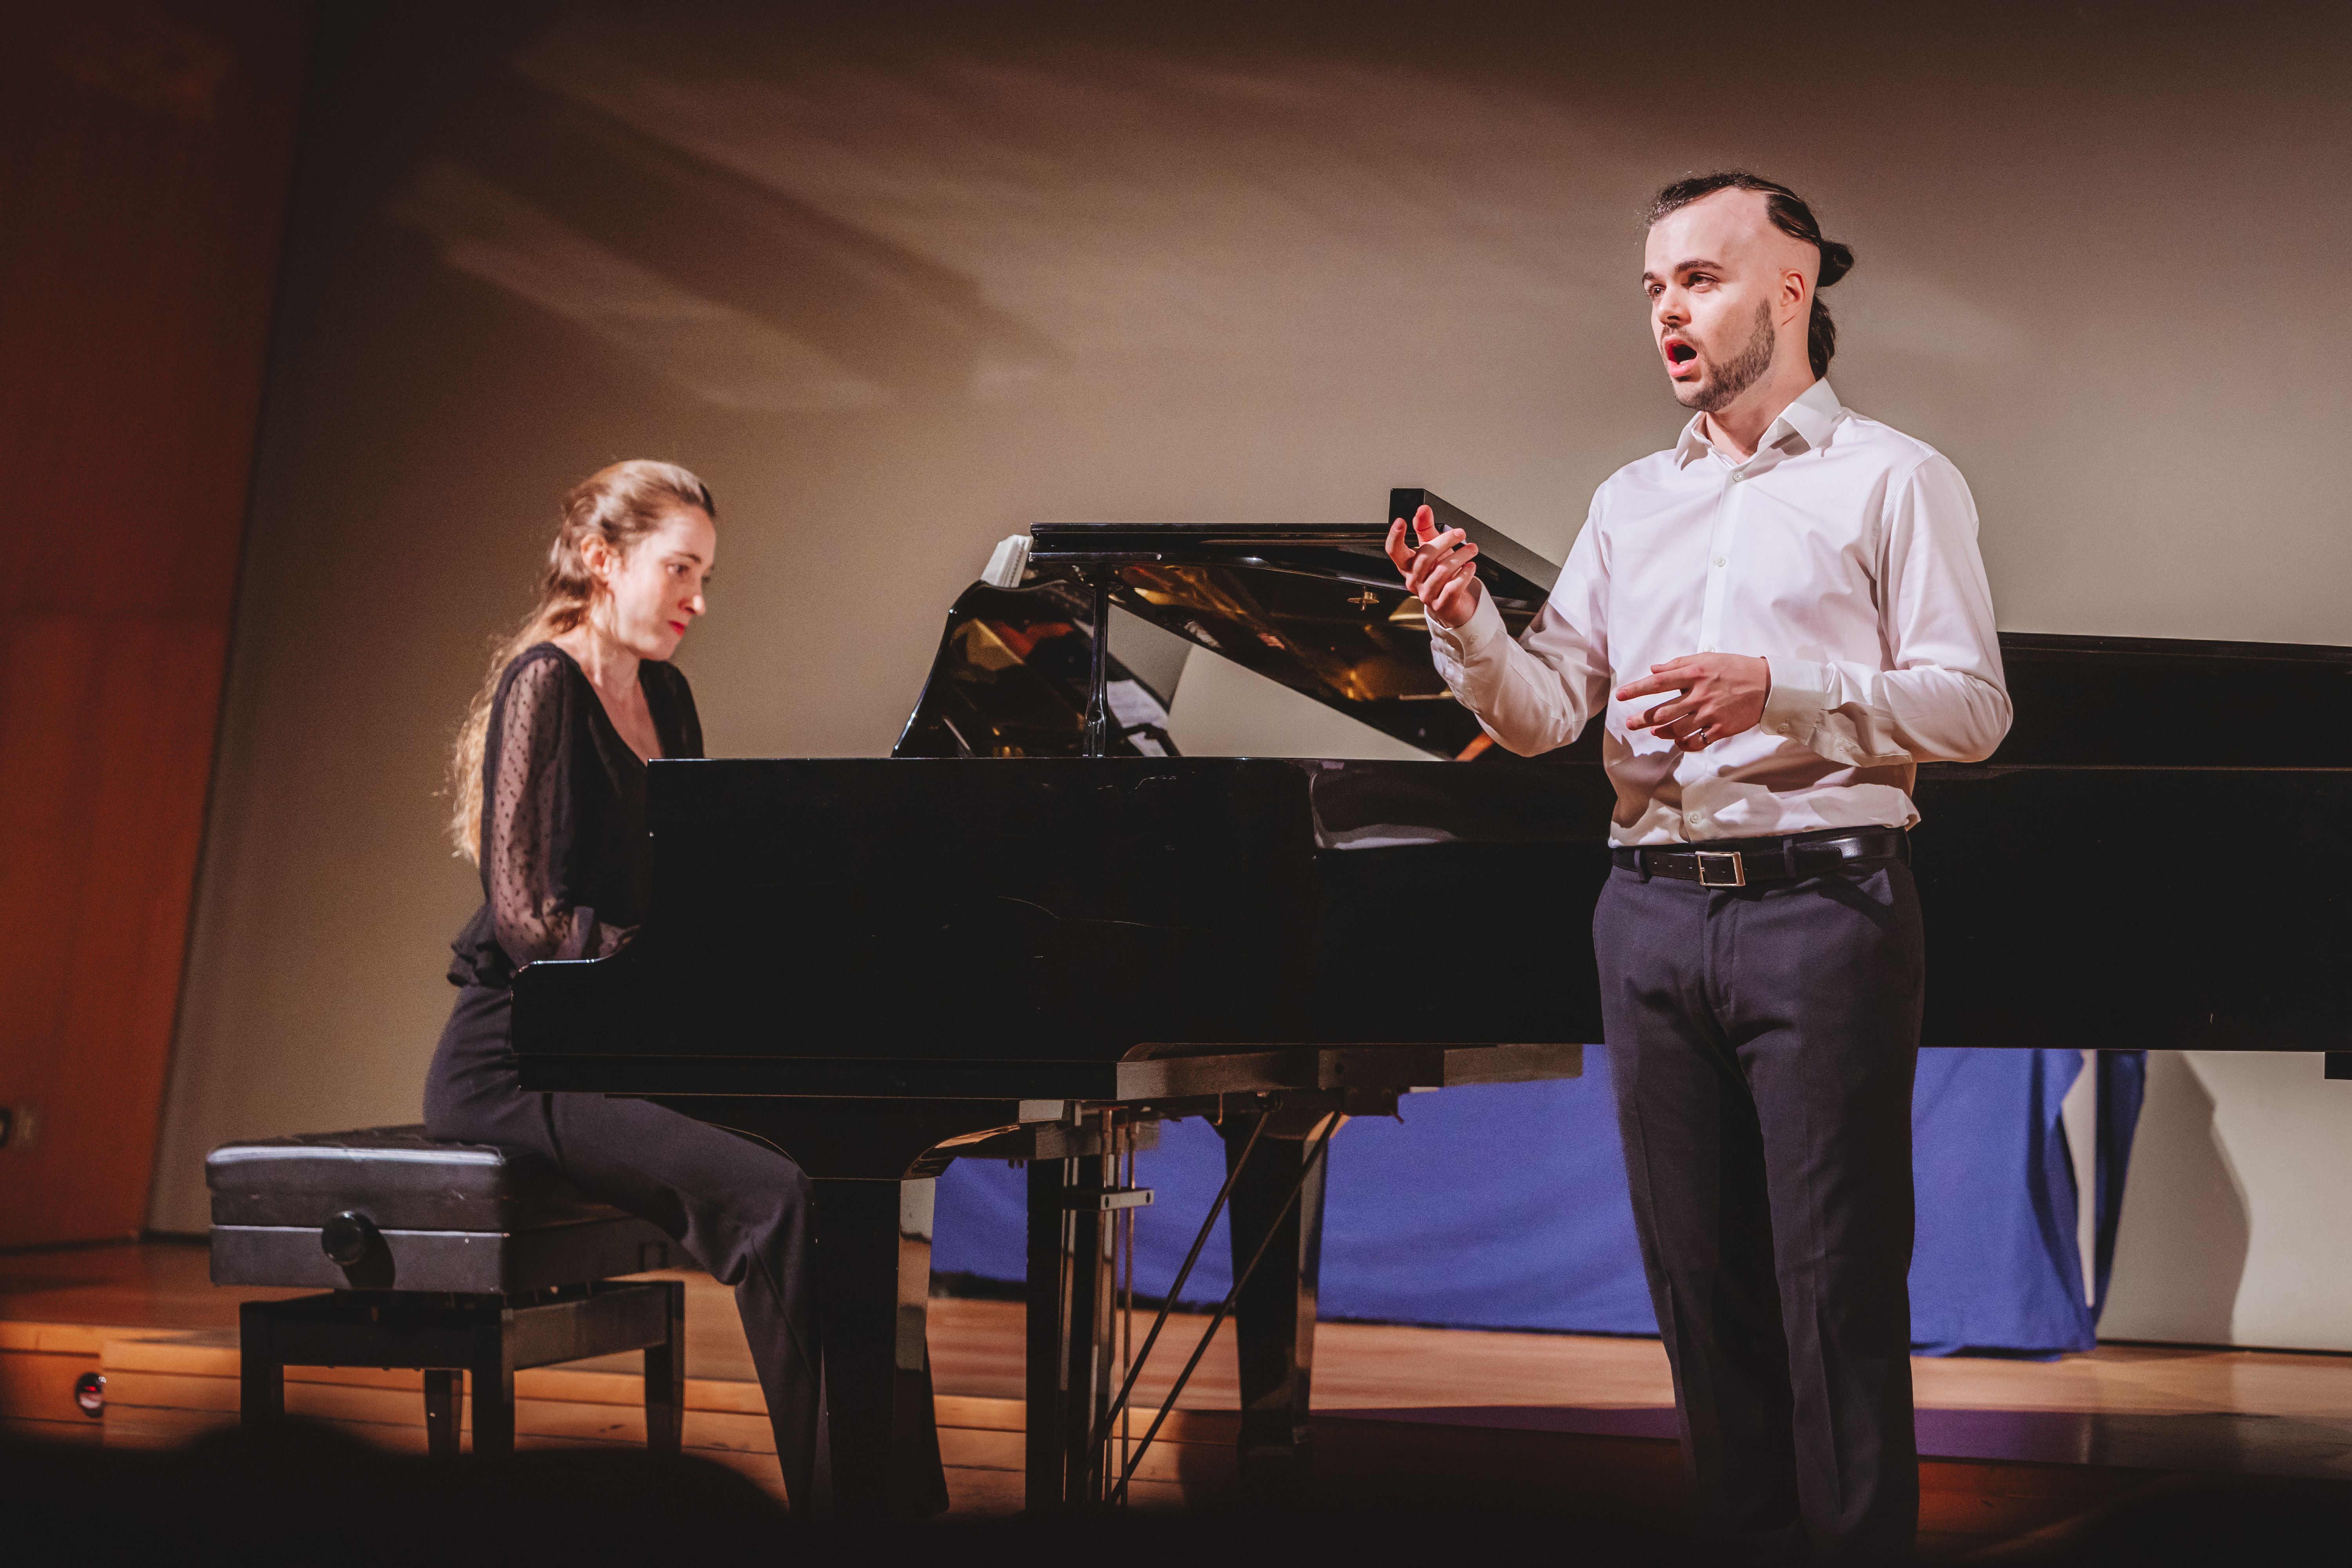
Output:
M1592 936L1700 1509L1757 1561L1905 1561L1924 978L1910 865L1745 889L1618 867Z

